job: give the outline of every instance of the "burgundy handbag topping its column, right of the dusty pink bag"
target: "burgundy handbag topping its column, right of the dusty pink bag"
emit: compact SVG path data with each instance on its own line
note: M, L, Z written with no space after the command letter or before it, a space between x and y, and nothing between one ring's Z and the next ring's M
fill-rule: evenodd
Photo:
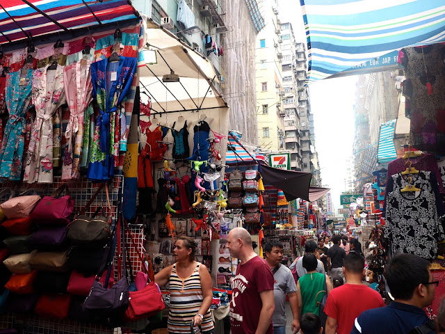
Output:
M65 196L57 198L65 190ZM62 184L51 196L44 196L31 213L33 222L40 225L67 225L74 209L68 185Z

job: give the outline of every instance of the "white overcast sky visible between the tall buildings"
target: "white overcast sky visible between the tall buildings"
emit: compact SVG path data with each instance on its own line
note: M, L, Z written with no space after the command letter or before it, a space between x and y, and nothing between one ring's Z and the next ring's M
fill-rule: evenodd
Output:
M279 17L281 22L291 22L297 42L306 41L300 1L280 0ZM309 86L321 178L332 189L336 212L345 190L346 159L353 151L356 81L355 76L325 79Z

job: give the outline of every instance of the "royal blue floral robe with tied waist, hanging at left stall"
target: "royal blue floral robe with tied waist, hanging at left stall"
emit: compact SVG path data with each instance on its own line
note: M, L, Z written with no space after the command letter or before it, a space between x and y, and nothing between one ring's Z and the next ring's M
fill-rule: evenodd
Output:
M92 96L99 104L99 117L88 165L90 180L105 181L114 175L115 113L131 89L136 66L136 58L123 56L116 62L107 58L91 65Z

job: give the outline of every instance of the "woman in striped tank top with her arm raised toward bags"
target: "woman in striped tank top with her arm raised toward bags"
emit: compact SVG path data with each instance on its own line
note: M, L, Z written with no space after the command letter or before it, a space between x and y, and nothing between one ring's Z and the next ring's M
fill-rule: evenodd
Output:
M213 297L211 277L207 267L195 261L196 248L197 244L191 237L180 237L173 250L177 262L154 276L160 287L170 283L170 333L190 333L193 320L196 326L201 326L202 333L213 334L209 311Z

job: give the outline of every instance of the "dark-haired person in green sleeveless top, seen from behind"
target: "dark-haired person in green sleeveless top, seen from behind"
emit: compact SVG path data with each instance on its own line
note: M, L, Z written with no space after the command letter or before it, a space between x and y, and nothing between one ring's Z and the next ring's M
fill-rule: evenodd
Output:
M310 253L303 256L303 267L307 270L307 273L300 277L297 282L297 298L301 315L307 312L320 315L320 308L316 302L321 302L323 296L329 294L332 290L329 277L317 272L317 263L314 254Z

